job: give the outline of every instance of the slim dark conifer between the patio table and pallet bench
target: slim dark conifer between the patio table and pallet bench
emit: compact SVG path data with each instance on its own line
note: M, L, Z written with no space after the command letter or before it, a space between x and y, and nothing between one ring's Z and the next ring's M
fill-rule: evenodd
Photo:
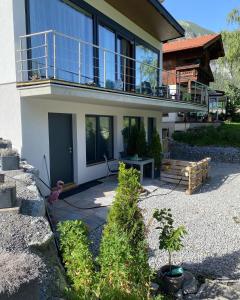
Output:
M155 178L159 178L162 162L162 145L156 129L153 131L152 140L148 146L148 156L154 159L154 176Z

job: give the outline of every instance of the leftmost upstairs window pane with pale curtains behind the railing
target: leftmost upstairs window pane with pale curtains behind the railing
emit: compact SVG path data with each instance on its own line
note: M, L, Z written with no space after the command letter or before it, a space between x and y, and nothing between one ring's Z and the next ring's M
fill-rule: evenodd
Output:
M56 30L70 37L93 43L92 15L81 8L61 0L28 0L29 33ZM53 76L53 36L48 37L48 76ZM44 36L32 37L28 40L32 51L31 69L44 77L45 48L37 48L44 44ZM34 59L35 58L35 59ZM80 71L79 71L80 68ZM80 75L79 75L80 74ZM93 82L93 47L79 44L67 37L56 36L56 76L72 82Z

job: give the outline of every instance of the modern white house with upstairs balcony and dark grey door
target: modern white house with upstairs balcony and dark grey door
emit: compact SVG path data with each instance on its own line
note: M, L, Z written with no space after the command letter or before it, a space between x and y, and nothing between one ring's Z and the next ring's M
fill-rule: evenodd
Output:
M52 186L105 176L126 126L207 111L162 84L162 44L184 30L158 0L2 0L0 25L0 137Z

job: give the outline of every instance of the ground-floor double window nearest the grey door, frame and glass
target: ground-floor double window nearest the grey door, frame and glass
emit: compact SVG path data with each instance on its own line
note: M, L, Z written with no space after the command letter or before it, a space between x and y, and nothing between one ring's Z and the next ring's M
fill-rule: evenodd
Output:
M113 159L113 117L86 116L87 164Z

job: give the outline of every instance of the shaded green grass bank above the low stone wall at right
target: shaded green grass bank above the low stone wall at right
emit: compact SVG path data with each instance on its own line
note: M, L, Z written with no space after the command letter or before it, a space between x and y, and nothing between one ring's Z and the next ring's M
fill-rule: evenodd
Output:
M174 132L177 142L196 146L219 146L240 148L240 123L224 123L214 126L188 129L186 132Z

